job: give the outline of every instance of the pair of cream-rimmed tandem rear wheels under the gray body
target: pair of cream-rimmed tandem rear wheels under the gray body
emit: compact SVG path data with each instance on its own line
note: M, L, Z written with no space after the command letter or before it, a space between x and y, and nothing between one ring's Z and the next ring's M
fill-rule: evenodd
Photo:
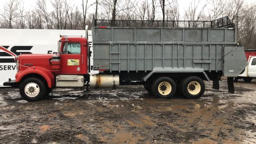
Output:
M197 99L204 94L205 84L201 78L190 76L180 81L178 90L186 98ZM169 77L158 77L153 82L150 91L158 98L171 98L176 93L176 83Z

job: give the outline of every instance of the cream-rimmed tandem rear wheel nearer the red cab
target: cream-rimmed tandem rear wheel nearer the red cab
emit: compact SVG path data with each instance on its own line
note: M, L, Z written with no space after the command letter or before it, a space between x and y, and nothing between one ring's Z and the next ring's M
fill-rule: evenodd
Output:
M151 92L159 98L171 98L176 93L176 84L169 77L160 77L154 81Z

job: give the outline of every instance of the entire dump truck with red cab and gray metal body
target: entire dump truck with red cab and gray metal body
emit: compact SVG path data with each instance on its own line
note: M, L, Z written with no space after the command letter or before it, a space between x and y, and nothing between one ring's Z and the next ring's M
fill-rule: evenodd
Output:
M204 94L203 80L219 89L221 76L233 77L246 66L237 27L225 17L216 21L93 20L93 67L86 38L62 36L58 54L21 54L15 58L16 80L4 86L20 89L28 101L41 100L53 88L118 88L143 84L156 97L176 90L187 98ZM220 23L221 22L221 23ZM184 27L187 24L187 27ZM89 74L90 70L99 74Z

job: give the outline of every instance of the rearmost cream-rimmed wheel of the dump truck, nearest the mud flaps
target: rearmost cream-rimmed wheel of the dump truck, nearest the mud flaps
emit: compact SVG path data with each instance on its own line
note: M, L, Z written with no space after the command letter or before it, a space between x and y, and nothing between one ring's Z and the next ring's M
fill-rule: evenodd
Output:
M184 78L180 82L180 92L189 99L198 99L204 94L204 81L197 76Z

